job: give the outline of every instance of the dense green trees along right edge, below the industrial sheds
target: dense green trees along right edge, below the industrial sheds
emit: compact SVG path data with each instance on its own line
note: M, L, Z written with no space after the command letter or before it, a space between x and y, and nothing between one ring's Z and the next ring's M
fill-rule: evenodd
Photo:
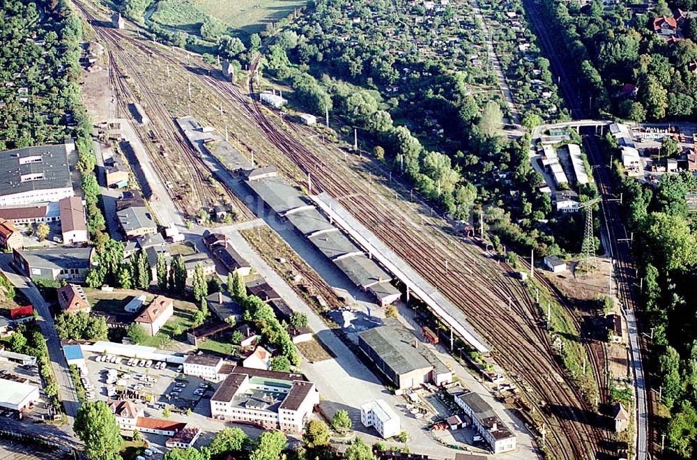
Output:
M618 166L618 169L621 167ZM665 431L671 458L693 459L697 447L697 233L685 194L697 188L690 172L664 176L652 190L622 171L627 222L635 232L643 277L645 321L654 337L654 369L672 409Z

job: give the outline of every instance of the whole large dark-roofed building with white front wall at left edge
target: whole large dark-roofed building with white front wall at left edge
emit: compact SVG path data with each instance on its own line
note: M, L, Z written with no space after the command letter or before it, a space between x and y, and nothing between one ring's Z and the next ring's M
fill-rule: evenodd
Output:
M68 155L75 144L0 152L0 206L24 206L72 197Z

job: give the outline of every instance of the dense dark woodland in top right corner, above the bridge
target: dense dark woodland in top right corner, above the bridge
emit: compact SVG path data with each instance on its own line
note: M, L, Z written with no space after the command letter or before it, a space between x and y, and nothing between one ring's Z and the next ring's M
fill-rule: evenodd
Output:
M686 3L675 6L684 8ZM694 18L678 22L685 39L672 43L653 27L655 18L673 17L662 0L645 14L635 14L623 4L604 6L599 0L588 6L546 0L545 7L556 45L579 75L579 89L590 97L595 112L634 121L693 116L697 108L697 78L690 68L697 59ZM585 99L583 103L588 107Z

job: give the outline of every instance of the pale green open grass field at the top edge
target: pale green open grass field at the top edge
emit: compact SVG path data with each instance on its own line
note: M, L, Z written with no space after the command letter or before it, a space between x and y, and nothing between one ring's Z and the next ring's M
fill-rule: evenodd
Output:
M236 31L251 35L276 22L307 0L160 0L152 20L165 26L198 33L206 17L214 17Z

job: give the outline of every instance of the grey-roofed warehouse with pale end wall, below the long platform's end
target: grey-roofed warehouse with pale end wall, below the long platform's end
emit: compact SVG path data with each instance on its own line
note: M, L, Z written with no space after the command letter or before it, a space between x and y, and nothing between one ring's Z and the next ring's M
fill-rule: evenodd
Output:
M358 346L395 388L417 388L422 383L445 385L452 371L396 319L358 332Z

